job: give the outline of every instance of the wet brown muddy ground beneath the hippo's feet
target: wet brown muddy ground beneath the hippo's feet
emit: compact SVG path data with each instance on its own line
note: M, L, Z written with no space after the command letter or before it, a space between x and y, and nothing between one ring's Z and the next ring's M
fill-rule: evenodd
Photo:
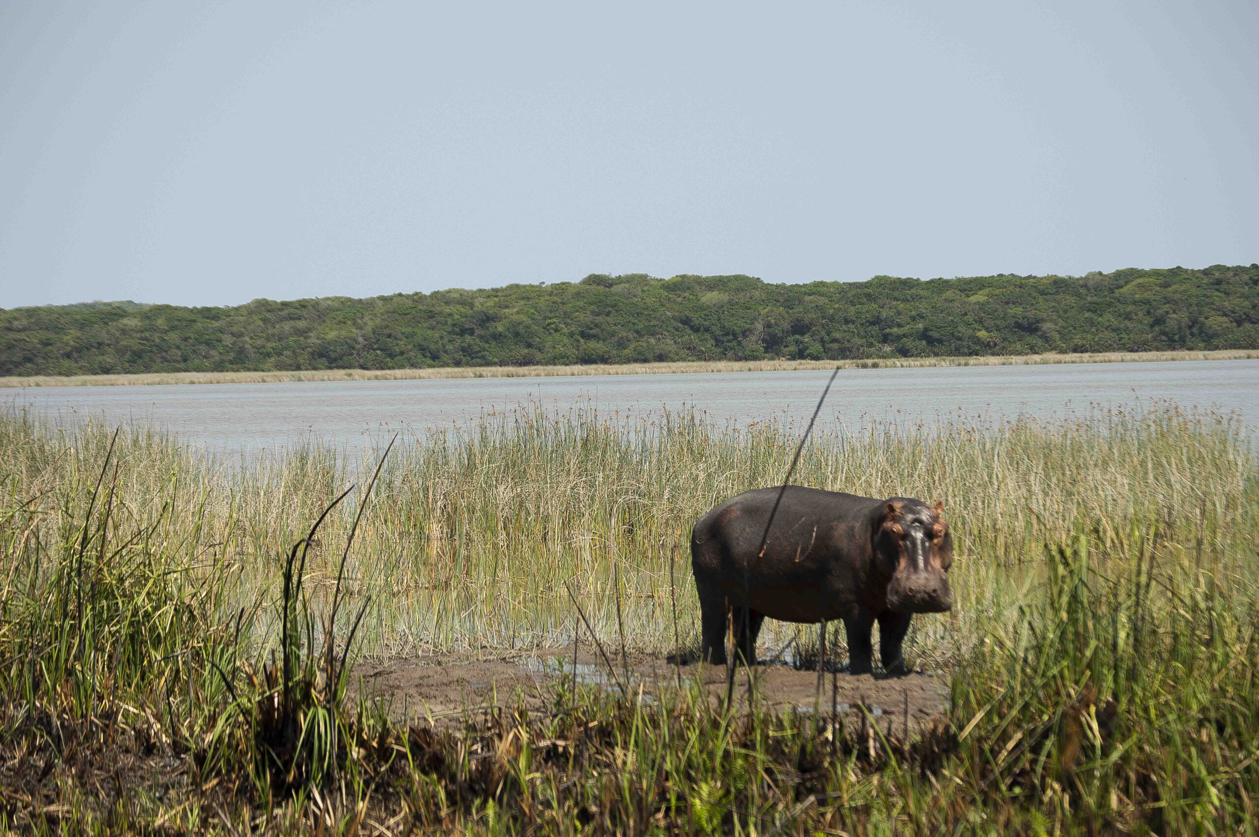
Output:
M578 653L573 666L572 649L551 649L502 657L433 656L390 660L383 663L364 662L354 671L354 681L365 697L383 699L392 719L458 724L465 714L480 715L491 706L540 710L554 706L555 686L573 682L618 690L618 681L628 681L628 690L642 694L643 700L656 700L665 690L697 685L714 701L725 699L728 680L725 666L695 663L674 666L665 657L631 656L624 666L613 657L617 677L597 653ZM626 675L628 670L628 677ZM860 717L865 707L880 727L891 725L900 731L923 727L940 717L947 707L948 681L934 673L915 672L904 677L872 677L825 672L821 688L818 672L797 670L789 665L762 665L753 673L757 701L778 711L815 711ZM740 668L735 675L737 699L748 702L748 675ZM833 700L832 700L833 697Z

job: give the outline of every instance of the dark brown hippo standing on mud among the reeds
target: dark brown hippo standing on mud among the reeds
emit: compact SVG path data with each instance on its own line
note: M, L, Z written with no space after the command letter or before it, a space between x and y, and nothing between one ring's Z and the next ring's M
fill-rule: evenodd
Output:
M782 502L758 555L779 491ZM870 631L878 622L884 671L906 673L901 643L909 621L953 607L953 540L943 510L940 502L801 486L757 488L716 506L691 531L704 658L726 662L730 629L739 656L754 663L765 617L842 619L849 671L871 673Z

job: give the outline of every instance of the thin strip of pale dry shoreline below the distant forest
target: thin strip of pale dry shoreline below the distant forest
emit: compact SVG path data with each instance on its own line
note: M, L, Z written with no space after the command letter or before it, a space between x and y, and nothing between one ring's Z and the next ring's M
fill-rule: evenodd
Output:
M281 384L341 380L432 380L458 378L575 378L594 375L685 375L699 373L802 371L841 369L923 369L944 366L1032 366L1045 364L1123 364L1182 360L1254 360L1259 349L1215 351L1114 351L966 357L888 357L861 360L694 360L570 366L443 366L434 369L319 369L237 373L136 373L123 375L34 375L0 378L0 389L35 386L155 386L175 384Z

